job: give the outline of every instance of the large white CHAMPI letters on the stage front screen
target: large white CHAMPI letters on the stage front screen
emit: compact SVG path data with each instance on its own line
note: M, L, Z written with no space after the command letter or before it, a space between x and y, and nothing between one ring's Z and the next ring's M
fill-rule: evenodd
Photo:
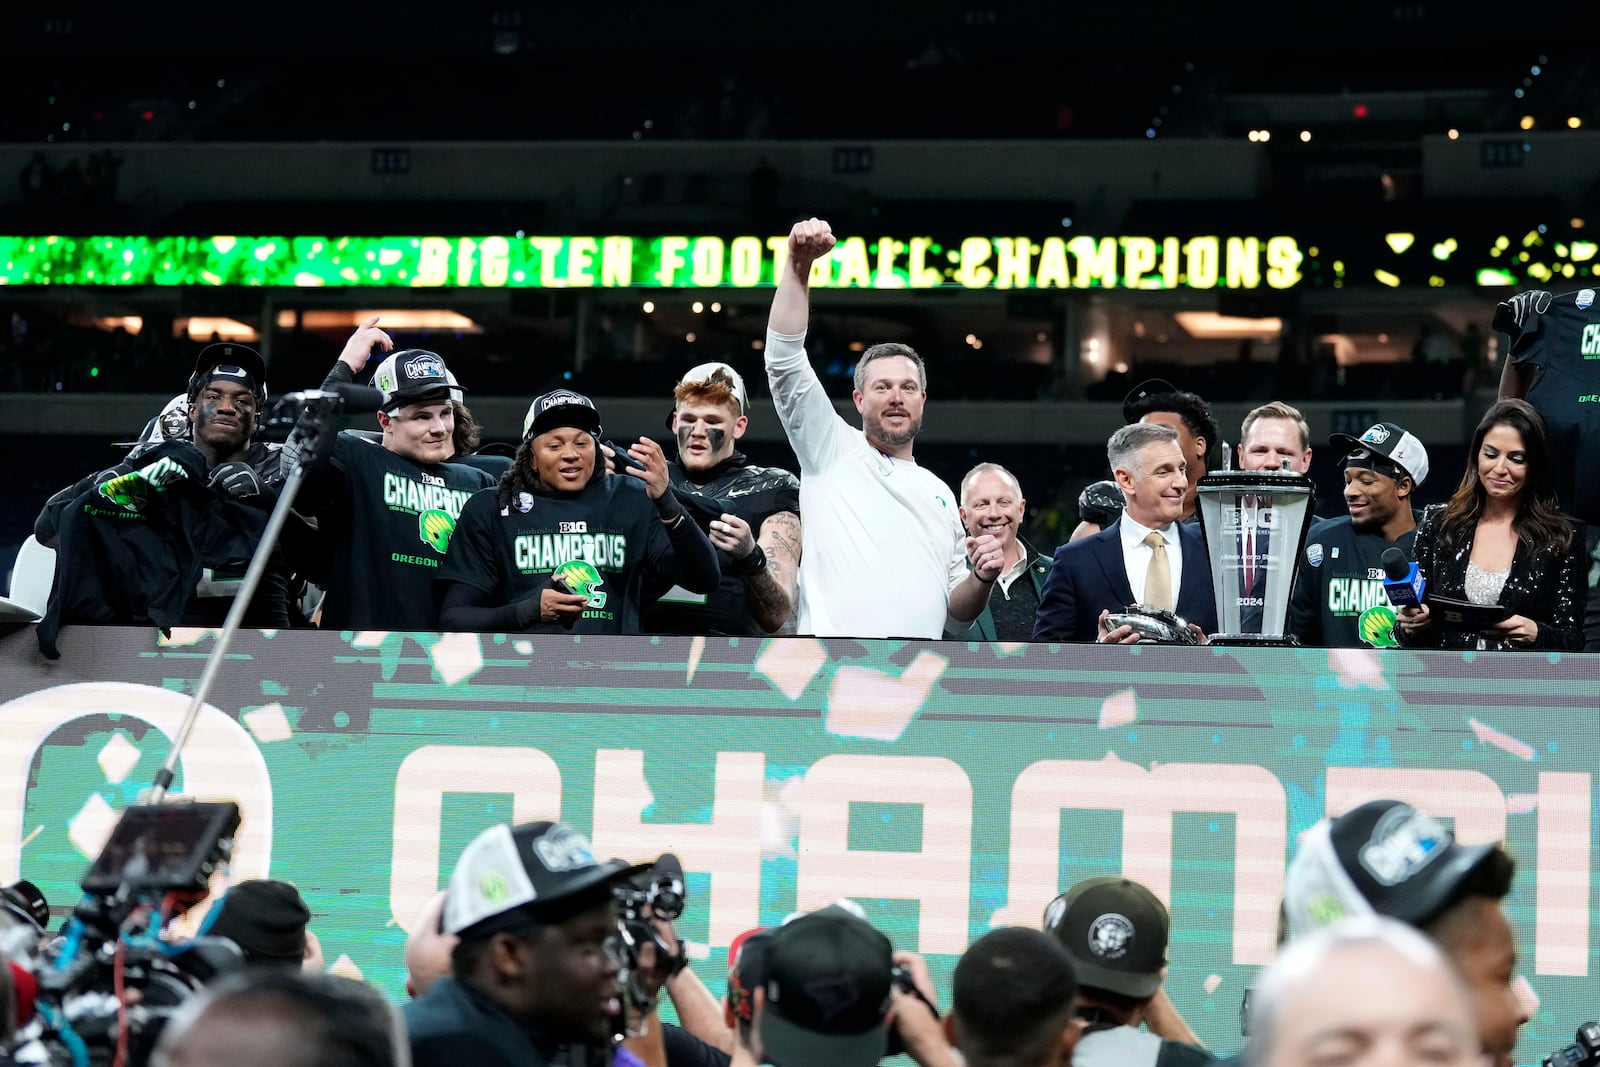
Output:
M696 805L704 774L693 782ZM1197 781L1211 785L1195 790ZM915 929L902 944L920 952L960 953L971 939L973 899L998 896L973 885L973 784L954 760L939 757L829 755L803 776L778 784L765 777L760 752L720 752L710 781L710 817L702 822L645 822L643 813L672 781L645 781L645 753L595 753L590 837L597 856L650 861L675 853L686 870L710 875L710 944L728 945L758 923L763 861L795 864L794 899L765 901L766 910L808 910L840 897L917 904ZM395 782L392 910L403 926L448 878L440 865L446 793L509 793L514 819L562 816L562 771L539 749L429 745L406 758ZM1328 768L1326 811L1366 800L1406 800L1453 819L1466 843L1499 841L1507 811L1538 811L1534 867L1534 966L1539 974L1587 973L1590 817L1589 774L1542 773L1538 793L1507 798L1478 771L1426 768ZM861 805L893 805L920 813L920 840L859 840L851 829ZM1062 813L1110 811L1122 819L1117 870L1171 901L1179 814L1222 814L1234 821L1232 960L1261 965L1277 947L1277 915L1290 857L1288 811L1282 782L1254 765L1166 763L1144 768L1120 760L1042 760L1011 785L1005 899L979 921L1037 926L1062 888ZM573 821L581 819L574 816ZM859 827L858 827L859 829ZM776 886L766 886L776 893Z

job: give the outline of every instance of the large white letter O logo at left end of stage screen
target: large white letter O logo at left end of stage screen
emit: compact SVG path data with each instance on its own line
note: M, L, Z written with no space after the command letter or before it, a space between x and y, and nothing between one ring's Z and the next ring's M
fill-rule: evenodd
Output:
M125 785L134 768L141 774L149 769L154 777L182 726L189 702L187 696L170 689L85 681L40 689L0 705L0 721L5 723L0 731L0 841L8 843L0 848L0 881L29 877L22 869L21 848L27 830L24 819L29 779L40 749L58 747L48 744L53 736L74 726L94 728L94 720L104 717L120 717L106 718L107 723L136 720L141 726L152 728L134 742L128 739L128 729L112 725L104 731L106 741L91 749L104 782L91 784L80 806L77 798L69 800L75 809L67 813L64 827L86 870L118 817L102 793L136 795L133 784ZM232 800L238 805L242 821L234 838L229 881L267 877L272 867L272 777L250 731L216 707L203 705L179 769L174 789L184 795L195 800ZM186 920L198 923L203 913L205 905L192 910Z

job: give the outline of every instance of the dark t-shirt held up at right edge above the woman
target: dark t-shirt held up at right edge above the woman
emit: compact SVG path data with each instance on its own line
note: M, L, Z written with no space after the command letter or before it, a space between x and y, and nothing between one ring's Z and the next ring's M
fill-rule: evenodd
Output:
M1522 326L1507 306L1494 328L1510 338L1510 358L1534 368L1528 403L1544 416L1562 510L1600 525L1600 478L1582 462L1600 453L1600 307L1595 290L1562 293Z

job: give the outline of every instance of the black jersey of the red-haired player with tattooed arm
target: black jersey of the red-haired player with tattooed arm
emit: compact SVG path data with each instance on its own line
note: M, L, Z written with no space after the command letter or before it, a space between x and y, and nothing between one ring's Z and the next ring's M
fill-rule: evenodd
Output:
M725 510L750 523L750 536L762 536L762 523L778 512L800 514L800 478L782 467L755 467L738 462L714 472L710 482L696 485L678 464L667 464L672 486L725 504ZM701 528L704 530L704 523ZM760 552L760 549L757 549ZM659 600L645 605L645 633L762 633L744 603L744 579L734 573L733 557L717 549L722 582L710 597L674 585Z

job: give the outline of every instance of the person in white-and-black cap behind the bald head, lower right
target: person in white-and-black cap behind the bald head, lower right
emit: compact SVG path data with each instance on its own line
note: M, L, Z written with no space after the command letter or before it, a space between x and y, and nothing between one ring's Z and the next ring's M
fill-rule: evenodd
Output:
M1478 1038L1510 1067L1528 1013L1512 989L1517 944L1501 901L1517 864L1499 845L1464 846L1398 800L1371 800L1301 838L1283 885L1290 936L1347 915L1387 915L1443 950L1472 995Z

